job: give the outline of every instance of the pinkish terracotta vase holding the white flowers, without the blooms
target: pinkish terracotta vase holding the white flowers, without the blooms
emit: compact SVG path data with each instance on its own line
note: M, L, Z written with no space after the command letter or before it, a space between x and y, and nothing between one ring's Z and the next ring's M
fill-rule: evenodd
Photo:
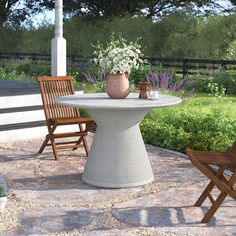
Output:
M110 98L126 98L129 95L128 73L108 74L106 92Z

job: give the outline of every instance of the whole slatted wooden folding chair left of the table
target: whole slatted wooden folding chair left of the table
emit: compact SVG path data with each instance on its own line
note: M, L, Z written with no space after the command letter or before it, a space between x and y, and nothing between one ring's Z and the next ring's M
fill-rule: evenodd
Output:
M79 109L61 106L55 102L59 96L75 94L73 78L71 76L38 77L38 82L48 128L48 134L38 153L42 153L46 146L52 146L54 158L58 160L57 148L76 150L78 147L84 147L88 156L89 147L86 136L88 127L94 124L93 119L81 117ZM78 132L54 133L58 126L74 124L78 124ZM75 141L55 142L57 138L69 137L77 137L77 139Z

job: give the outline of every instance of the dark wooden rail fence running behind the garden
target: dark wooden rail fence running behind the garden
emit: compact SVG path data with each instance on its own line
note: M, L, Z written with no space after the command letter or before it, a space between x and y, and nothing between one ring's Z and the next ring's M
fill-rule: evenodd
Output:
M91 60L89 56L83 55L67 55L67 59L72 65L78 63L88 63ZM176 68L176 73L182 74L185 77L187 74L199 73L199 70L236 70L236 60L211 60L211 59L180 59L180 58L162 58L162 57L146 57L152 65L162 65L165 68ZM50 54L43 53L1 53L1 60L31 60L50 61ZM207 71L205 72L207 73Z

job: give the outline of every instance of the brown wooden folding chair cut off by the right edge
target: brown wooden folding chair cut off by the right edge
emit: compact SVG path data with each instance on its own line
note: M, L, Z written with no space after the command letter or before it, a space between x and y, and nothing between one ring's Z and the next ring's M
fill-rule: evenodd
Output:
M213 217L227 195L236 200L236 189L234 188L236 182L236 142L226 153L194 151L190 148L186 148L185 151L192 164L210 179L210 183L194 204L194 206L201 206L206 198L209 198L212 206L201 220L202 223L207 223ZM213 168L212 165L216 165L218 168ZM225 170L228 167L232 170L230 177L225 176ZM229 170L229 172L231 171ZM215 186L220 191L216 199L211 195L211 191Z

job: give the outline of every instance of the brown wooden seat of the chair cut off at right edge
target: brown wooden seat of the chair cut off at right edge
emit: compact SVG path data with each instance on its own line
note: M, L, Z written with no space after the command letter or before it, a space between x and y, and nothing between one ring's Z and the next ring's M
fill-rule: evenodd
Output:
M236 157L230 153L193 151L193 155L203 164L236 166Z

